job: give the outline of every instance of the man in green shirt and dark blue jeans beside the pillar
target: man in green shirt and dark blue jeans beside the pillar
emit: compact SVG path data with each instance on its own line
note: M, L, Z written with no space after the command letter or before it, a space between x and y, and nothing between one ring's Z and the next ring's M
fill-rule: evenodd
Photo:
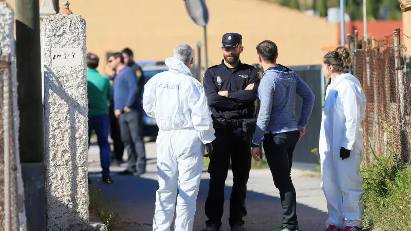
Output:
M99 57L96 54L87 53L87 95L88 95L88 145L93 130L97 135L100 147L100 162L102 180L111 184L110 177L110 145L108 133L110 119L108 117L108 101L113 98L113 87L109 79L99 74L96 68L99 66Z

